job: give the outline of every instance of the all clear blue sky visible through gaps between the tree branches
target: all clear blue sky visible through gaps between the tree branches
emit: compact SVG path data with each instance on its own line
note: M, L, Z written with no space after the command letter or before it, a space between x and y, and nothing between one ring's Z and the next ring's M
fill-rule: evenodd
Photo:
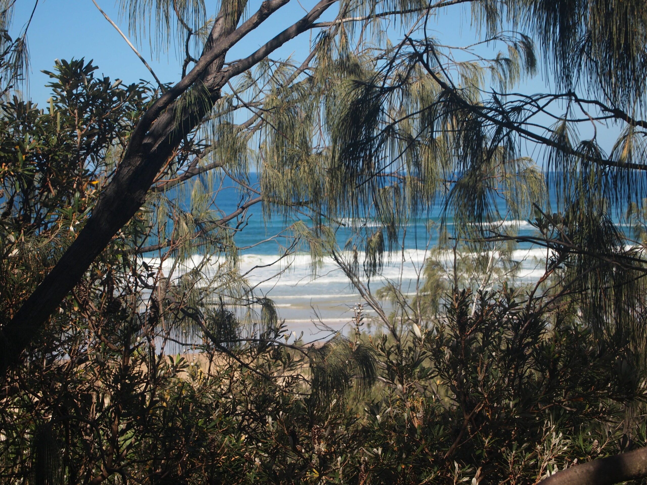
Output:
M27 21L34 2L36 0L18 0L16 15L14 17L14 30L21 28ZM115 21L124 32L127 33L127 23L120 16L115 0L96 0L104 11ZM250 0L248 8L255 11L260 5L260 0ZM288 27L303 16L305 8L313 6L314 0L300 0L289 2L278 12L265 21L243 39L239 45L228 54L228 59L237 59L247 56L259 45L262 45L272 36ZM207 14L215 14L217 2L206 0ZM467 11L463 6L454 6L444 9L441 14L432 21L432 28L435 32L432 35L438 37L448 45L466 45L472 43L476 38L474 29L470 27ZM334 16L334 10L327 12L327 17ZM134 41L134 39L132 39ZM99 72L111 79L120 78L126 83L137 81L140 78L152 80L148 70L128 47L124 39L120 37L100 14L92 0L39 0L38 8L34 15L28 32L28 43L30 49L31 67L30 80L27 89L27 96L43 106L50 96L49 90L45 87L48 81L47 76L41 72L43 69L51 70L54 59L85 58L94 59L94 64L99 67ZM177 82L180 78L181 63L175 57L175 49L170 52L155 56L147 45L137 46L141 54L148 59L157 76L164 82ZM503 47L503 46L501 46ZM296 58L303 58L307 55L309 48L309 36L305 34L300 38L293 39L279 52L273 54L273 58L286 58L294 54ZM159 58L157 58L159 57ZM533 79L526 81L518 89L520 92L545 92L548 87L542 76L538 74ZM586 132L589 127L584 126ZM601 128L601 127L600 127ZM611 129L605 133L598 129L598 138L602 140L605 149L610 149L617 130ZM586 136L587 133L581 133ZM529 155L535 155L529 153Z

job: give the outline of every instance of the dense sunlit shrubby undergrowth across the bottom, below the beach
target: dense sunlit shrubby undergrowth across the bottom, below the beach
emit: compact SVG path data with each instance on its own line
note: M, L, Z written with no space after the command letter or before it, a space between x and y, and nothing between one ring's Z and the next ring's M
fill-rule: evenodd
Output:
M226 354L205 341L198 364L164 356L111 310L100 327L50 326L3 387L0 473L6 483L525 484L644 446L644 383L625 349L602 345L568 308L532 314L507 288L471 308L470 293L455 292L424 329L357 331L317 352L268 338ZM371 382L331 383L334 360L356 352L375 359Z

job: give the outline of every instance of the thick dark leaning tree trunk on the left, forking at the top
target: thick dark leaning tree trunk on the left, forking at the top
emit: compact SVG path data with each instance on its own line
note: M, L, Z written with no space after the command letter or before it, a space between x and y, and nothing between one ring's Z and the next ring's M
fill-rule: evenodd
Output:
M100 196L91 217L52 271L0 330L0 376L19 361L49 316L82 278L94 259L114 235L144 204L155 176L173 151L212 109L220 89L230 78L250 69L283 43L305 32L337 0L321 0L300 21L283 30L256 52L223 69L225 54L240 39L260 25L289 0L266 0L258 12L236 28L241 12L226 12L216 18L210 39L195 67L177 85L163 94L142 115L113 180ZM225 4L226 5L226 4ZM209 103L182 105L188 89L204 89Z

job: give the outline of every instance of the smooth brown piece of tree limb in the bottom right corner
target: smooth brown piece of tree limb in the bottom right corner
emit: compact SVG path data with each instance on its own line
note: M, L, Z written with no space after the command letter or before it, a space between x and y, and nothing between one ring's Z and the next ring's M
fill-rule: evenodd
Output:
M541 485L611 485L647 477L647 447L558 471Z

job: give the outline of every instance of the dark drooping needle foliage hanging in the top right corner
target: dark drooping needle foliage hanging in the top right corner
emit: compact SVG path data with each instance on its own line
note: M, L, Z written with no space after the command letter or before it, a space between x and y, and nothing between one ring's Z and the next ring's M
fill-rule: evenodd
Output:
M560 89L584 89L618 107L644 105L645 26L641 1L502 2L517 28L542 47Z

